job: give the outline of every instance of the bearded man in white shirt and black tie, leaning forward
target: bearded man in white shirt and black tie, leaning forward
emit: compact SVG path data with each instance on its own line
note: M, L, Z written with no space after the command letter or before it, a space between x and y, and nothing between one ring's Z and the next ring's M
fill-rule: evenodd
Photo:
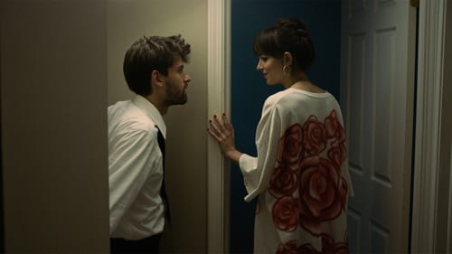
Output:
M158 253L168 217L163 116L187 101L190 44L181 35L133 43L124 76L135 98L108 107L108 181L112 253ZM167 219L167 218L166 218Z

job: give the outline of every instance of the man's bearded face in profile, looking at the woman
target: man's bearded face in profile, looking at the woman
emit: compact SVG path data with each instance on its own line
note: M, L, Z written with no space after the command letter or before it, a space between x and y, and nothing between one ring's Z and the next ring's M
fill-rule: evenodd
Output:
M187 102L187 87L192 80L184 71L184 62L179 58L168 69L168 76L165 80L166 104L183 105Z

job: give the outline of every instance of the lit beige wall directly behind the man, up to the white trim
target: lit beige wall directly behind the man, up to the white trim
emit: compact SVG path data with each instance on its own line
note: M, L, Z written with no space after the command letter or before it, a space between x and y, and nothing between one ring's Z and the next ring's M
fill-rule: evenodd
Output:
M192 77L188 103L170 108L167 125L167 188L172 227L163 250L207 249L207 0L108 0L108 104L128 99L124 53L143 35L182 34L192 45L186 70Z

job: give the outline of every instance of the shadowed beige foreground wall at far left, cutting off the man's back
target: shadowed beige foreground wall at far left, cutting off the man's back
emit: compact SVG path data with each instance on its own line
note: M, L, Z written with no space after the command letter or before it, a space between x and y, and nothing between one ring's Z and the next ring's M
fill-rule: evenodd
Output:
M0 4L6 252L105 253L105 2Z

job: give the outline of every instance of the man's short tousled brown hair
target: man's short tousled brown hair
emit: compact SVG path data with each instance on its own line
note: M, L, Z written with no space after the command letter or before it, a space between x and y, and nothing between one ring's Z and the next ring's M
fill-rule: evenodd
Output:
M139 95L152 93L151 72L156 70L165 76L175 61L188 61L190 44L181 35L140 38L127 50L123 71L129 89Z

